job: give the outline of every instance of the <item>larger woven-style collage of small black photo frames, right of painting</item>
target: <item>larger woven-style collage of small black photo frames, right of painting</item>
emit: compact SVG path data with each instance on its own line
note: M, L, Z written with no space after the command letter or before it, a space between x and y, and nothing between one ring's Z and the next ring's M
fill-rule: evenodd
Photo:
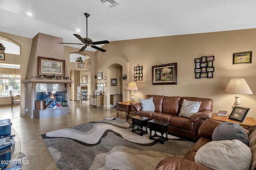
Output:
M203 56L201 58L195 59L195 75L196 78L213 78L214 66L213 66L214 56Z

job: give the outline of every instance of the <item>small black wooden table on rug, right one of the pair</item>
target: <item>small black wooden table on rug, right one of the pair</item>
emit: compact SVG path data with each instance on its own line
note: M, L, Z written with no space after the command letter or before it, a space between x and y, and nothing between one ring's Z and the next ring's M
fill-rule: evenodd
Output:
M162 144L164 144L164 141L168 141L168 125L170 125L170 122L167 121L161 121L152 119L148 121L149 123L149 129L150 129L150 137L149 139L154 139L155 141L160 141ZM155 131L154 135L152 134L152 131ZM156 132L160 132L160 135L157 135ZM164 133L166 134L166 137L164 137ZM158 138L156 138L158 137Z

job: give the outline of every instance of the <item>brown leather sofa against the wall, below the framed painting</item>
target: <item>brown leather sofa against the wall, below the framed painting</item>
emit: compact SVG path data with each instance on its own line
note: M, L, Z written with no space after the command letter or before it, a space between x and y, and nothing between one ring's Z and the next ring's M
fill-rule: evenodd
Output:
M212 117L212 99L180 96L146 95L146 99L153 97L155 111L143 111L140 103L132 103L133 115L140 115L151 119L170 122L168 133L183 139L197 141L200 125ZM198 113L191 119L178 116L183 100L202 102Z

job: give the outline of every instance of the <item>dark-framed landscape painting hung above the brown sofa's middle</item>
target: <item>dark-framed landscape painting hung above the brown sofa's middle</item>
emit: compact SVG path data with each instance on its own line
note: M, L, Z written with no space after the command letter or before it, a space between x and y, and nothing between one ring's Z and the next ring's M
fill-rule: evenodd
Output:
M177 84L177 63L152 66L152 84Z

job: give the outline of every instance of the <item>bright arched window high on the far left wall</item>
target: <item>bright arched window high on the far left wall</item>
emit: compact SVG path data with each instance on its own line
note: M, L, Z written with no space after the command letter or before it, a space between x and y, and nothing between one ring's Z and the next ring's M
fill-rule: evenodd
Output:
M12 39L0 36L0 43L5 47L5 53L20 55L20 44Z

